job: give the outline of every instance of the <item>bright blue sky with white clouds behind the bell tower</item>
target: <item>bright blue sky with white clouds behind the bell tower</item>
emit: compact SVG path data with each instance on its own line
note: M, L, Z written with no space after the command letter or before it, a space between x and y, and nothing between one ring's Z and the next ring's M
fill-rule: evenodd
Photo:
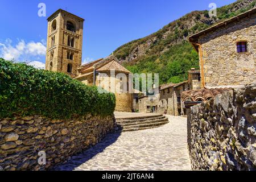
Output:
M43 67L46 19L60 8L85 19L85 63L108 56L119 46L152 34L193 10L209 10L212 2L221 7L235 0L1 0L0 57L34 61ZM38 16L39 3L46 4L46 17Z

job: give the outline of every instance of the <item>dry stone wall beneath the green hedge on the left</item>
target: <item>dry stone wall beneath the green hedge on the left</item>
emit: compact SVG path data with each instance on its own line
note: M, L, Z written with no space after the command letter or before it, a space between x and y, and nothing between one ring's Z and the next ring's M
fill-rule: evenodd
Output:
M100 142L114 125L112 116L69 121L39 116L0 119L0 171L51 169ZM40 151L46 152L46 165L38 163Z

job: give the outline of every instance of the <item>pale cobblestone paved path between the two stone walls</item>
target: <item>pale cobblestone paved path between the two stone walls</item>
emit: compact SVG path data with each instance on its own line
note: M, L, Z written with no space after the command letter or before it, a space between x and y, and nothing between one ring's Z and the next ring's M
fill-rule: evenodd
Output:
M109 134L57 170L191 170L187 119L172 117L156 129Z

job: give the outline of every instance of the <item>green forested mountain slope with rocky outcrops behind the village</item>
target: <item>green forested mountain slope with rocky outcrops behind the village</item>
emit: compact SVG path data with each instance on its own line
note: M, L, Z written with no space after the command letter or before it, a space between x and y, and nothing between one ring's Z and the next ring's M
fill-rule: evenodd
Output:
M192 11L145 38L129 42L114 51L122 65L133 73L159 73L160 84L187 80L189 69L199 69L197 52L188 36L255 7L256 0L238 0L217 9Z

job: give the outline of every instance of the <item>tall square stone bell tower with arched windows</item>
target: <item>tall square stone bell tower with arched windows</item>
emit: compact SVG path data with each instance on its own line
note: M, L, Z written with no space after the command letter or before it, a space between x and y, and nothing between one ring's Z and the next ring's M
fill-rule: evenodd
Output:
M84 19L59 9L47 20L46 70L76 77L82 64Z

